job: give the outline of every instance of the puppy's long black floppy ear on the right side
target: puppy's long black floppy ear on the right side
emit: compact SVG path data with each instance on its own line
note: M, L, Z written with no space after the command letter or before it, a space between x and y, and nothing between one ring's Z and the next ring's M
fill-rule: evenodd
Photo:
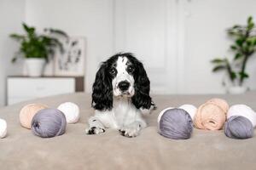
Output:
M151 97L149 96L150 82L148 80L147 73L143 67L143 64L137 59L134 60L135 72L134 77L134 88L135 94L132 96L131 101L137 109L149 109L152 105Z

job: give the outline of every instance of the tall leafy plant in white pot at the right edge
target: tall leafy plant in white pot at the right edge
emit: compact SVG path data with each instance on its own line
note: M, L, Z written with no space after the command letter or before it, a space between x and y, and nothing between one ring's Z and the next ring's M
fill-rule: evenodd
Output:
M234 39L230 49L235 55L231 61L227 58L212 59L214 65L212 71L226 71L231 82L228 92L242 94L247 91L247 87L244 86L244 81L249 77L246 71L247 61L256 50L256 30L253 17L248 17L247 26L233 26L228 29L227 33Z

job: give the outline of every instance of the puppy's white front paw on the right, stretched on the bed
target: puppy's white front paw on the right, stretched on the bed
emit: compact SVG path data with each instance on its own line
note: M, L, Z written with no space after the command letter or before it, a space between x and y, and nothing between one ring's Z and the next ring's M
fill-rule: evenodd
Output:
M136 137L137 135L139 135L140 131L146 127L147 124L146 122L132 122L129 125L126 125L124 127L121 127L119 129L119 132L121 133L121 135L132 138L132 137Z

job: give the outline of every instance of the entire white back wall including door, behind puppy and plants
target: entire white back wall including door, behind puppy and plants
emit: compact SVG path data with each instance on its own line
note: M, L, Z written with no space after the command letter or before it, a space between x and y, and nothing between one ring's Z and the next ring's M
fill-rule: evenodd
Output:
M231 56L226 28L245 23L250 14L256 20L254 0L24 1L0 0L0 105L5 94L4 77L20 71L16 65L7 71L9 59L17 49L8 35L20 31L24 18L39 30L55 27L72 36L86 37L86 91L91 89L100 61L119 50L130 49L143 59L153 91L161 94L224 93L222 73L212 73L209 61ZM253 89L255 61L256 56L248 65L251 77L247 85Z

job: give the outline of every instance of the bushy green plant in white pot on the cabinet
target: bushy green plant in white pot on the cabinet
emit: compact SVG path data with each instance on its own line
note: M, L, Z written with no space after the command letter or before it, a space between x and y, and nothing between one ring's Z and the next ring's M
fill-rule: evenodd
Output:
M40 77L46 62L54 57L56 48L63 52L62 44L57 37L67 38L67 34L61 30L49 28L44 29L45 34L38 35L34 27L27 26L25 23L22 26L26 35L10 35L20 42L20 50L15 54L12 62L14 63L18 57L24 57L28 76Z

